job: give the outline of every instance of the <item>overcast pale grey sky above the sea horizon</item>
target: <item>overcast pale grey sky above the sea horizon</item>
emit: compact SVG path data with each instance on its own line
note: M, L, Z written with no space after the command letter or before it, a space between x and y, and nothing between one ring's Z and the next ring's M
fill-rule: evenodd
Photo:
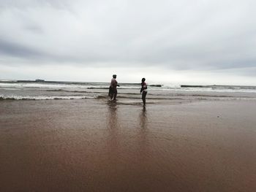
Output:
M0 0L0 80L256 85L254 0Z

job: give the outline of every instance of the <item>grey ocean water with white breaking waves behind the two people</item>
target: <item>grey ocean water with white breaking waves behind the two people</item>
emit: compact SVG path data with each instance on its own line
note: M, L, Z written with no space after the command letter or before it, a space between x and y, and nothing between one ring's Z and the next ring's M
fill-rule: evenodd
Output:
M0 81L0 100L108 99L109 82ZM118 99L140 99L140 83L119 83ZM147 99L256 99L256 86L148 85Z

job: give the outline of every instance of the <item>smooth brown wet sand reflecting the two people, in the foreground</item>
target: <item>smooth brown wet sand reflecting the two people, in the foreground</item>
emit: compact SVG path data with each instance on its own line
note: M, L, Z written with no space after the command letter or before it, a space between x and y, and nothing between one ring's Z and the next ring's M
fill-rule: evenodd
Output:
M0 191L256 191L256 102L0 101Z

